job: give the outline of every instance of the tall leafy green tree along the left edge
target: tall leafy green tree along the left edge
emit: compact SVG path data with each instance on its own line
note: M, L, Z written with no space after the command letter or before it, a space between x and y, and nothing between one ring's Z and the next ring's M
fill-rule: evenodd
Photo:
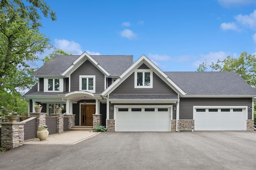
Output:
M41 14L56 20L43 0L0 1L0 106L17 107L22 102L20 91L36 81L28 75L35 70L37 55L52 47L39 32Z

